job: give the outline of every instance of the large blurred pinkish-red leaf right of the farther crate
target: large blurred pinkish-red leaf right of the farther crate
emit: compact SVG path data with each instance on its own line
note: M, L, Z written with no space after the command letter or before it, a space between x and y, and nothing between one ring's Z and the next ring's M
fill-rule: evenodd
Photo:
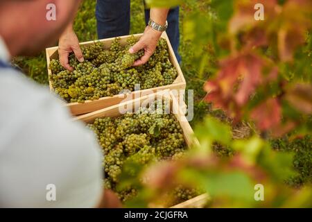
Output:
M248 52L220 63L216 79L205 84L205 99L212 102L214 108L238 112L261 83L263 60Z

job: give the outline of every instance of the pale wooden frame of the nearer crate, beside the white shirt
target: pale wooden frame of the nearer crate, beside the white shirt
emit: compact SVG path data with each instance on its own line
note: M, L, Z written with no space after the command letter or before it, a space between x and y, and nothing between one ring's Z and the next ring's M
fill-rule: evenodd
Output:
M184 108L184 104L182 104L182 108L177 102L177 99L175 96L173 96L172 92L169 90L166 90L165 92L160 93L154 93L149 94L147 96L142 96L138 99L134 99L128 102L119 103L116 105L111 106L110 108L104 108L102 110L98 110L95 112L90 112L89 114L84 114L79 117L75 117L75 121L84 121L85 123L93 123L94 119L101 118L101 117L119 117L121 116L121 113L119 112L119 108L126 108L125 110L128 111L136 111L132 107L135 106L135 104L139 104L141 106L142 104L149 103L151 101L155 101L155 98L164 98L168 101L170 101L171 106L171 112L174 112L175 118L177 121L179 121L180 126L183 131L184 139L187 142L187 145L193 146L198 145L198 139L193 136L193 129L189 125L189 122L187 121L187 118L184 116L184 111L182 108ZM209 197L207 194L202 194L200 196L197 196L195 198L192 198L190 200L185 201L184 203L180 203L178 205L173 206L173 208L191 208L191 207L203 207L205 203L207 203L207 200L209 200Z

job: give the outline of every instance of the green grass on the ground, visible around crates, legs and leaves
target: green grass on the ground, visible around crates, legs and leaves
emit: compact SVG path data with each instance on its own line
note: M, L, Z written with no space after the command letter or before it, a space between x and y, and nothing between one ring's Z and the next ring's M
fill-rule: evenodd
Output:
M196 4L196 1L193 1ZM205 1L198 1L200 7L205 4ZM80 42L96 40L96 18L95 18L95 5L96 1L85 0L81 6L78 15L75 20L74 29ZM196 5L182 6L180 23L183 24L189 12ZM142 33L145 28L144 22L144 4L141 0L131 1L131 28L130 33ZM183 27L180 26L181 33L183 33ZM227 119L223 112L212 111L210 105L203 101L205 92L202 89L202 85L209 78L211 73L209 69L205 70L203 74L199 75L196 67L192 63L193 42L184 40L181 35L180 55L182 56L182 71L187 80L187 89L194 90L194 118L191 121L192 126L196 126L197 123L209 113L219 119ZM57 42L55 42L55 46ZM48 74L46 71L46 58L45 52L42 51L38 56L33 58L19 57L15 58L14 62L18 65L25 74L30 78L33 78L37 83L47 85ZM238 133L238 137L244 137L249 135L249 130L246 130L245 126L236 126L234 131ZM287 183L292 186L300 186L304 183L312 182L312 142L310 137L303 139L297 139L293 142L289 142L288 139L277 139L272 142L272 146L278 151L292 151L295 152L294 167L298 171L299 175L295 178L290 178ZM226 148L216 147L216 153L218 155L230 155Z

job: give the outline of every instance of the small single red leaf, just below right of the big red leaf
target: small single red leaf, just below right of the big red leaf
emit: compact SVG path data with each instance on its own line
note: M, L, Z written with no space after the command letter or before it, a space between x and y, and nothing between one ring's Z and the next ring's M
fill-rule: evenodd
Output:
M281 122L281 105L276 98L268 99L252 110L251 118L262 131L278 126Z

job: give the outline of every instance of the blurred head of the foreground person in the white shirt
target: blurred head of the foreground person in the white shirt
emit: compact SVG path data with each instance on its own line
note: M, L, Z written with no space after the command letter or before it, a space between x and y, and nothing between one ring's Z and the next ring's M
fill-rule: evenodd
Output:
M0 36L11 56L32 56L58 40L80 1L0 0Z

